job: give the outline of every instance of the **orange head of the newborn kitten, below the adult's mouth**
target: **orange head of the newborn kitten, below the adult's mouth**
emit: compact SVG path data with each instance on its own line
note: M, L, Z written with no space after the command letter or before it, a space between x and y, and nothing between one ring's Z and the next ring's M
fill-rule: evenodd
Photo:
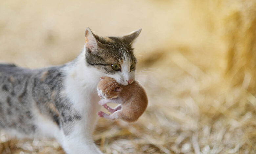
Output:
M100 77L100 79L97 86L98 96L103 99L117 98L123 89L117 81L110 77Z

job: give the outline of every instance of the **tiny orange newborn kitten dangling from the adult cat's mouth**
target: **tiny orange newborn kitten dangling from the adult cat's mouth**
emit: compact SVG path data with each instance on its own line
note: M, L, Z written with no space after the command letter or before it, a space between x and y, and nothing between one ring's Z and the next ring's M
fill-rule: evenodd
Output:
M98 115L107 119L122 119L127 122L136 121L145 111L148 99L144 88L137 82L122 86L115 79L101 77L97 90L100 98L99 105L104 106L109 112L108 115L99 111ZM119 103L116 108L110 108L106 103Z

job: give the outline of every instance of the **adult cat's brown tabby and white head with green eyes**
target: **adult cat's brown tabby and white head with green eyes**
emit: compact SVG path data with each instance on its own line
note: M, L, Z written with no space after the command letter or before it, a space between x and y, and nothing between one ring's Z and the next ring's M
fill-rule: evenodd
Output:
M132 43L140 32L141 29L121 37L100 37L86 28L84 47L87 65L121 85L131 84L135 79L137 62Z

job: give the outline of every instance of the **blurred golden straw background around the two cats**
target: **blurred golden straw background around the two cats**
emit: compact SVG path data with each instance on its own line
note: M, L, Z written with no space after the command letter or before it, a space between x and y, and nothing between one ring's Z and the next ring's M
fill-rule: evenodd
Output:
M0 62L39 68L73 60L86 27L142 28L137 80L149 105L135 123L100 119L104 153L256 153L256 1L0 1ZM64 154L51 139L9 140L0 153Z

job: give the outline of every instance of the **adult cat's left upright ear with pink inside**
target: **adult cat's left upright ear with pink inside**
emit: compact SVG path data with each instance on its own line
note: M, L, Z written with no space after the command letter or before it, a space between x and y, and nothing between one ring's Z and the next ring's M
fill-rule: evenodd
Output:
M101 46L104 46L102 43L100 43L97 39L96 36L89 27L85 29L85 45L84 47L88 52L96 52L98 48Z

